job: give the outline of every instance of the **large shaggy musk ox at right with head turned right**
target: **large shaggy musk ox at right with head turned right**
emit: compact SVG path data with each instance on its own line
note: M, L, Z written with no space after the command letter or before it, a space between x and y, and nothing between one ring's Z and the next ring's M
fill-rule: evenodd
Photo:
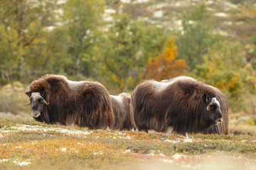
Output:
M132 93L132 108L138 130L228 134L227 99L191 77L144 81Z

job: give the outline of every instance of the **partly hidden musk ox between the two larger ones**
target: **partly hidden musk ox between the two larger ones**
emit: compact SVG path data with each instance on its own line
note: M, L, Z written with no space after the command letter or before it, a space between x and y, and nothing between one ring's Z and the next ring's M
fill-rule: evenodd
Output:
M135 128L132 113L131 95L127 93L118 96L110 95L115 118L114 129L132 130Z

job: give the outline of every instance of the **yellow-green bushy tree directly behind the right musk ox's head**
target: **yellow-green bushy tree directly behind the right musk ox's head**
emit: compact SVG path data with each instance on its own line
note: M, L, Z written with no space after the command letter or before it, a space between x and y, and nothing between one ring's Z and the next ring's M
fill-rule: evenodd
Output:
M243 108L241 96L245 92L244 57L240 44L228 41L216 43L208 49L208 55L203 56L203 64L198 65L191 76L223 91L230 108L240 111Z

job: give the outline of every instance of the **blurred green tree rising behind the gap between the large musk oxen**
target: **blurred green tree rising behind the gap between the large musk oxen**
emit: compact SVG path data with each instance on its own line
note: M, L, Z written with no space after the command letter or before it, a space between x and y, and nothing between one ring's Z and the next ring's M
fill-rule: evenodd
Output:
M130 71L136 65L136 60L142 48L143 25L132 22L132 19L120 14L114 18L114 26L110 28L109 46L105 53L105 68L107 79L117 84L117 88L127 90L127 79Z

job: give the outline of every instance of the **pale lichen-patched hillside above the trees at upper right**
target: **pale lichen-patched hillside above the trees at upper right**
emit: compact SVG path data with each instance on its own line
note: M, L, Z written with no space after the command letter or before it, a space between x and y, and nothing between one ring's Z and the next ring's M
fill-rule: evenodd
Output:
M240 41L251 50L252 36L256 35L256 1L241 0L121 0L106 1L105 21L112 21L117 13L129 13L133 18L157 24L166 33L182 31L183 15L195 6L206 4L211 14L212 33ZM192 21L191 21L192 22Z

